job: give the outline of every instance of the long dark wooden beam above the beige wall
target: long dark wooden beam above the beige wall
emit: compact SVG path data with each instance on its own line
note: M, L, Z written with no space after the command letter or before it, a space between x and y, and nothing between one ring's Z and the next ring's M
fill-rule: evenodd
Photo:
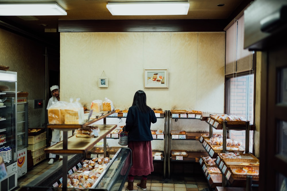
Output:
M223 32L226 20L59 20L59 32Z

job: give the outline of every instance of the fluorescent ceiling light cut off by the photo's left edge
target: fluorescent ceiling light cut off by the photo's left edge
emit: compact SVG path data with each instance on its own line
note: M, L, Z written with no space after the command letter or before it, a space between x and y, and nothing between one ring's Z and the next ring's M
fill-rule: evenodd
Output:
M0 16L67 15L57 3L0 3Z

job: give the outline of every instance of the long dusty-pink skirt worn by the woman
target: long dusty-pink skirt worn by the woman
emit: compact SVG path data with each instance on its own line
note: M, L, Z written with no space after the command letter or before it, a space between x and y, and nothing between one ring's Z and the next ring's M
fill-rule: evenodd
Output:
M149 175L154 171L151 141L130 141L128 147L131 149L133 162L129 175Z

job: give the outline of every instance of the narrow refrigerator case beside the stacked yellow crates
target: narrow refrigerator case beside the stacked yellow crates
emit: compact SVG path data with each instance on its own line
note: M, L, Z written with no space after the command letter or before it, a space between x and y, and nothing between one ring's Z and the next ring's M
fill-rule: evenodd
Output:
M27 97L17 98L17 174L27 173L28 103Z

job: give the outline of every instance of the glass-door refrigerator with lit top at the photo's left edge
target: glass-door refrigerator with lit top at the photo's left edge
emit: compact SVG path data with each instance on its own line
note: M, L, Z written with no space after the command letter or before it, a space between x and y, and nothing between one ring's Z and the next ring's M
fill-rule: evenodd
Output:
M0 155L7 176L0 182L1 191L17 186L17 72L0 70Z

